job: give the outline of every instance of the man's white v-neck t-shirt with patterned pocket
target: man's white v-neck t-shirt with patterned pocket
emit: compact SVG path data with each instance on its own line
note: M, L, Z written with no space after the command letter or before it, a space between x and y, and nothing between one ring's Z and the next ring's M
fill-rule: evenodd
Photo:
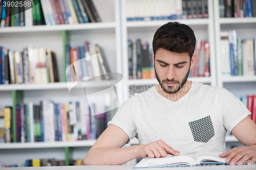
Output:
M153 86L127 100L108 125L121 128L140 144L163 140L180 154L219 155L225 151L226 131L250 115L245 105L224 88L192 82L176 102Z

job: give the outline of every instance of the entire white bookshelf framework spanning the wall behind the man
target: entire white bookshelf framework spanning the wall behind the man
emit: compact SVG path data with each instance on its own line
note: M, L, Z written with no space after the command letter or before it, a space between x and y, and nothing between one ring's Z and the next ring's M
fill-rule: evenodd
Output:
M56 53L58 76L60 82L47 84L11 84L0 85L0 108L16 103L38 103L44 98L54 102L65 103L79 101L80 97L71 96L65 82L66 68L66 43L71 46L82 45L84 41L98 43L104 48L109 66L112 72L123 74L125 84L117 88L122 94L120 99L124 102L131 87L153 86L158 84L156 79L129 79L127 40L141 38L143 41L152 41L155 31L164 23L175 20L153 20L153 21L126 21L125 1L123 0L93 0L102 22L79 23L76 25L55 26L32 26L32 27L10 27L0 29L0 45L12 50L22 51L24 46L51 48ZM108 7L108 8L106 8ZM256 76L233 76L222 78L220 58L220 32L236 29L242 38L256 37L256 18L220 18L218 1L208 0L208 18L200 19L178 19L181 23L190 26L196 38L206 40L210 44L210 77L190 77L188 80L200 83L224 87L234 95L256 94ZM74 82L75 84L75 82ZM87 82L86 88L101 88L104 82ZM243 87L243 88L241 88ZM38 98L40 96L40 98ZM95 99L95 102L102 100ZM226 136L226 145L238 142L233 136ZM0 152L6 153L5 159L0 164L23 163L25 158L41 158L56 156L57 159L82 159L89 151L95 140L67 141L67 142L34 142L34 143L1 143ZM137 139L132 139L129 144L138 144ZM128 145L129 145L128 144ZM18 150L18 154L16 154ZM13 155L19 157L13 160ZM24 156L24 157L23 157ZM39 157L40 158L40 157ZM12 160L12 162L10 161ZM9 161L9 162L8 162Z

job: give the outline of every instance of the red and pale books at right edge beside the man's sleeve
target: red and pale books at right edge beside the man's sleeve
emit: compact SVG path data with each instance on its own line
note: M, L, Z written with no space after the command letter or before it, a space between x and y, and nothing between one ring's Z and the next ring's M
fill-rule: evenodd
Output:
M254 123L256 123L256 95L245 95L242 97L237 96L237 98L241 100L247 109L251 112L250 118Z

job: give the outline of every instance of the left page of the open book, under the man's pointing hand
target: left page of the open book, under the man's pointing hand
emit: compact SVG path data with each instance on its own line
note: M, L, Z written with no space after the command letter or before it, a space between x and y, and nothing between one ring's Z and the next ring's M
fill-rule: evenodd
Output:
M196 161L193 158L186 155L183 155L183 156L167 155L165 157L160 157L160 158L150 158L147 156L143 158L140 162L135 164L134 168L169 166L172 164L194 165L196 164Z

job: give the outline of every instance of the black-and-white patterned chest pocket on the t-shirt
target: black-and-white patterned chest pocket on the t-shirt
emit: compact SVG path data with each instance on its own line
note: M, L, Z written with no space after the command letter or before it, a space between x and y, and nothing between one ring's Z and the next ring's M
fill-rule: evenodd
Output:
M194 141L208 142L215 135L210 116L189 122L188 125L193 134Z

